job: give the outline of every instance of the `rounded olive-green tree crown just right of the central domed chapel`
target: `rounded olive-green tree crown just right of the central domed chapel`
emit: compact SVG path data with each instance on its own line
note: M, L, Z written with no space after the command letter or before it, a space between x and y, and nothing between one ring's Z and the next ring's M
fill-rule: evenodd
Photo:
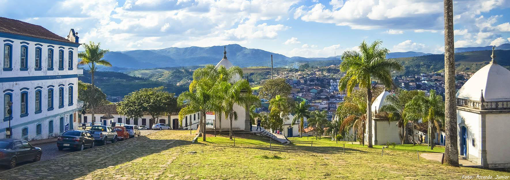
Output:
M292 87L284 78L268 79L262 84L259 97L268 100L275 98L277 95L287 97L291 90Z

